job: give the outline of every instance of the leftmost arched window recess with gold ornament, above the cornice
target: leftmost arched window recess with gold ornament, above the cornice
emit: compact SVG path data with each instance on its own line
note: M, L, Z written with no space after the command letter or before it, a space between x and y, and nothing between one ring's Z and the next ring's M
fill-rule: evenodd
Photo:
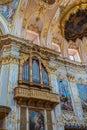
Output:
M26 39L40 45L41 31L43 29L44 16L35 12L31 15L26 25Z

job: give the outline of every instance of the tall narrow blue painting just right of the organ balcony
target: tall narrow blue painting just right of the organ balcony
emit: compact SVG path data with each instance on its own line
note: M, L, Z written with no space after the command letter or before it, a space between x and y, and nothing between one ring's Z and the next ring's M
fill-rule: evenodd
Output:
M68 82L64 80L58 80L59 94L61 100L62 110L73 110L71 96L69 92Z

